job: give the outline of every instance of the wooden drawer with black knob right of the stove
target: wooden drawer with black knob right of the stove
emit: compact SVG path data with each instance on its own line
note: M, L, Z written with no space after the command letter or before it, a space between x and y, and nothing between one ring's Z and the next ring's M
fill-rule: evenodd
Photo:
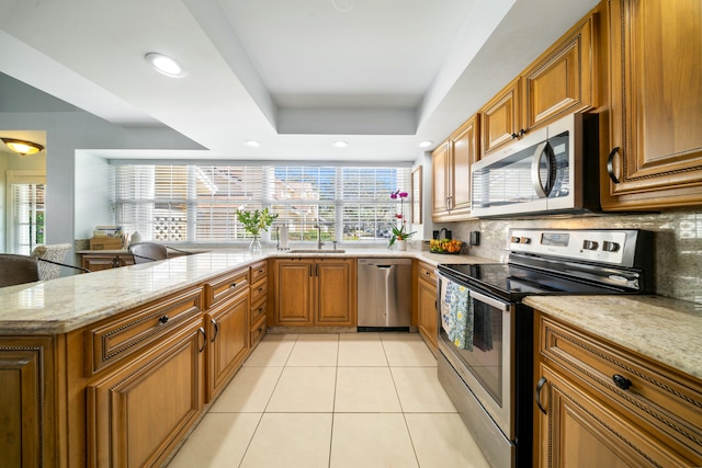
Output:
M541 354L637 425L702 456L702 389L692 377L541 318ZM683 448L686 447L686 448Z

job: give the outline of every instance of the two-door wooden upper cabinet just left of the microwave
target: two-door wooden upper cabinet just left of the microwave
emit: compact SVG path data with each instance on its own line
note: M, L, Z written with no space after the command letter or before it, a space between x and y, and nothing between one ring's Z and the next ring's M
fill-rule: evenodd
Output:
M434 221L469 217L471 165L480 158L479 132L476 114L432 152Z

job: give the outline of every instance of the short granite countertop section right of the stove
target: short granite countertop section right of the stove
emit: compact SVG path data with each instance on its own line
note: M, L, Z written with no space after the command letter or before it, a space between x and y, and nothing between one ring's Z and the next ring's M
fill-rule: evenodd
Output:
M702 304L660 296L529 296L523 303L702 378Z

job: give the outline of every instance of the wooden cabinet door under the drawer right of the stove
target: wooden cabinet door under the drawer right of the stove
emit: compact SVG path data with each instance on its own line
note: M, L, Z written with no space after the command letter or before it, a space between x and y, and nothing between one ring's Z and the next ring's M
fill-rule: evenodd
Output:
M539 419L537 466L691 466L690 460L548 366L541 366L541 375L546 385L536 398L546 413L534 412Z

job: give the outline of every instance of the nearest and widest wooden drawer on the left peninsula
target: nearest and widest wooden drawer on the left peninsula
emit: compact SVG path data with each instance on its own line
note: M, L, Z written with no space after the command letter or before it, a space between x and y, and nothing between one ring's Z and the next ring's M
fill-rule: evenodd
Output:
M201 311L202 288L195 287L91 327L86 331L87 375L160 340L168 330Z

